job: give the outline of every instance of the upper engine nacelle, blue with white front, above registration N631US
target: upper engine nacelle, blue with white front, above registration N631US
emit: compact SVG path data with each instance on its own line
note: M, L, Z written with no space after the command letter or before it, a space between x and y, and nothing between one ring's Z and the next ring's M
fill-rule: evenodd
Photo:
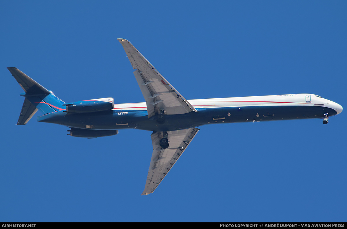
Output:
M83 100L74 103L65 103L62 105L66 106L66 112L76 113L108 111L115 108L113 98Z

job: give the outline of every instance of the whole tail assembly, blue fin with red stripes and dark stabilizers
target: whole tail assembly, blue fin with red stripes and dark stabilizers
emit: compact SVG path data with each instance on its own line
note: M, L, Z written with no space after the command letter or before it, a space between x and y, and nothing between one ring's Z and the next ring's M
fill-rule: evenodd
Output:
M12 76L15 77L25 92L20 94L24 96L25 99L17 125L25 125L37 110L40 110L43 114L47 114L66 109L62 106L62 104L64 104L63 101L29 76L15 67L8 67L7 69L11 72Z

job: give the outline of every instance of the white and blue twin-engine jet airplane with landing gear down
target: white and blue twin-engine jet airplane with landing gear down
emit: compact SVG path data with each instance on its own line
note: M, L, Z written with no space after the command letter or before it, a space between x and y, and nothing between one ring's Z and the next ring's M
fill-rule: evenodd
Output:
M153 152L142 195L153 193L191 143L197 127L234 122L323 119L342 107L315 94L281 94L187 100L126 39L123 46L145 102L115 104L113 98L65 103L52 91L18 70L8 67L24 90L17 125L25 125L40 110L39 122L69 127L68 135L97 138L117 135L120 129L152 131Z

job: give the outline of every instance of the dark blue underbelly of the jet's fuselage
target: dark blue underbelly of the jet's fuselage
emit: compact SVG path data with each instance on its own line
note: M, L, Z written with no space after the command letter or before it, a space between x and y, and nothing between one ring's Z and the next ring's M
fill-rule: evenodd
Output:
M198 112L165 115L163 123L155 117L147 118L147 111L102 111L95 113L54 112L38 117L38 121L57 123L64 126L90 129L142 129L151 131L171 131L202 125L232 122L258 122L292 119L323 118L337 112L319 106L257 106L197 109Z

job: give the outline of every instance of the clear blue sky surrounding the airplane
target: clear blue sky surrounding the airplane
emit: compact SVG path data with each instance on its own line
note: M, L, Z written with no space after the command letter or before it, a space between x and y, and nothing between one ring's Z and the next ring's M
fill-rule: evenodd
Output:
M4 1L0 221L347 221L346 113L201 127L140 196L149 131L16 126L14 66L65 102L142 102L126 38L186 98L313 93L347 109L346 1Z

